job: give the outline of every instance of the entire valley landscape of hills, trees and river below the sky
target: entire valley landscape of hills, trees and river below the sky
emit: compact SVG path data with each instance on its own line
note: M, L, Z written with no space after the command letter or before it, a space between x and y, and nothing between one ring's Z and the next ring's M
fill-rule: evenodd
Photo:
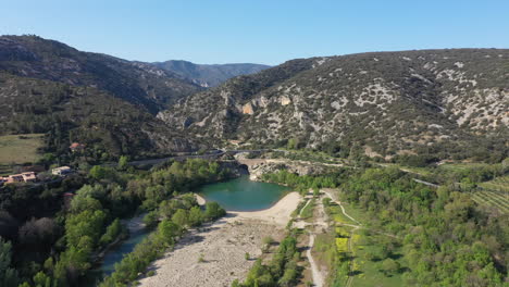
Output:
M506 286L508 61L0 36L0 285Z

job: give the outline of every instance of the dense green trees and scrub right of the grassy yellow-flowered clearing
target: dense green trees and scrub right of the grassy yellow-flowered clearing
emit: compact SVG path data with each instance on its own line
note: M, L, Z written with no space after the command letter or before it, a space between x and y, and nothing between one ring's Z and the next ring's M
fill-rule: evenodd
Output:
M507 216L486 213L454 188L414 183L397 169L358 172L340 188L374 226L402 238L406 286L502 285ZM382 269L394 265L380 260Z

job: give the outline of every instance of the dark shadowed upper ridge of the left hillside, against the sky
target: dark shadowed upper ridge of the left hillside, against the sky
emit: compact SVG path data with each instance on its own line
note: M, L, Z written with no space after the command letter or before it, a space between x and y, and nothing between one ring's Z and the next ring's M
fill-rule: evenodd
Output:
M37 36L0 37L0 70L23 77L95 87L151 112L200 89L149 64L82 52Z

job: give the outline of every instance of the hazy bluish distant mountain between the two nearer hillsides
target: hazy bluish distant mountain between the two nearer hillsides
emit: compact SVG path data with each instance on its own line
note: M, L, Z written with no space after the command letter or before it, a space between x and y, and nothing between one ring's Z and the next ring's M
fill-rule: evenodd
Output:
M153 64L190 79L202 87L215 87L229 78L254 74L270 67L249 63L203 65L178 60L156 62Z

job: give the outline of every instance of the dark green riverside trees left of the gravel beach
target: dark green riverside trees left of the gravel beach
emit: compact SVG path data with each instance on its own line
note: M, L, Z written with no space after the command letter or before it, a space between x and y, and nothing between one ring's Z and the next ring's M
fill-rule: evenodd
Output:
M38 286L41 280L48 280L50 285L44 285L48 287L76 286L99 251L123 236L119 219L137 210L153 212L158 229L139 247L142 251L136 251L147 257L131 262L136 267L124 263L128 271L122 269L131 278L133 269L139 270L141 262L149 262L173 242L175 230L179 234L183 228L224 214L212 202L202 212L193 196L183 194L228 176L228 171L216 162L188 160L170 162L150 172L98 165L88 174L67 177L54 187L8 186L1 190L0 237L12 242L12 248L10 244L4 248L5 259L9 250L16 257L4 264L12 279L2 286ZM72 190L76 192L64 200L63 194Z

